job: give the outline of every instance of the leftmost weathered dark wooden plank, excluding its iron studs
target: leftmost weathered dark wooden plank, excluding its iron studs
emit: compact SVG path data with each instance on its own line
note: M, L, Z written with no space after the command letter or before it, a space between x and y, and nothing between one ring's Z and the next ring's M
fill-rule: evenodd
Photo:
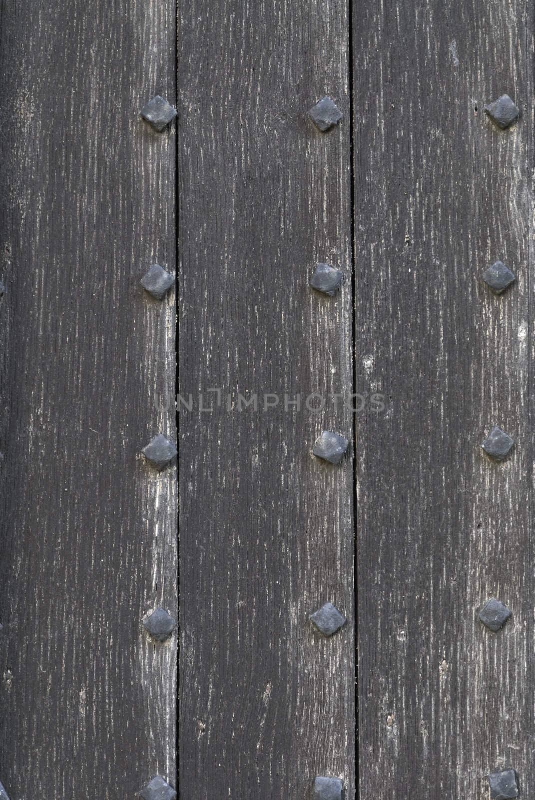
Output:
M2 0L0 779L11 800L124 800L175 779L174 5Z

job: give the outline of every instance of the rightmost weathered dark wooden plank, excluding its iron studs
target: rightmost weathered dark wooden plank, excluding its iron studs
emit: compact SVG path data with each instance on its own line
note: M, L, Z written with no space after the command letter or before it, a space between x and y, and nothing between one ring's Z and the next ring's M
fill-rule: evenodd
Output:
M501 767L533 794L532 17L353 3L357 385L373 357L389 397L357 432L365 798L487 798ZM501 131L483 109L505 92L522 118ZM501 465L494 425L517 441Z

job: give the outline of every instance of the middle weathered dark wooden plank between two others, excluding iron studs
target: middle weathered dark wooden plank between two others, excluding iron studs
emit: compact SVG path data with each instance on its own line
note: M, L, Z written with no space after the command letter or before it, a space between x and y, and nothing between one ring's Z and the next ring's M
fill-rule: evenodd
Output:
M354 792L348 20L337 0L179 5L180 778L190 800ZM306 111L325 94L341 126ZM336 298L309 289L340 266ZM217 393L222 391L222 406ZM199 410L199 394L204 406ZM238 410L238 393L260 406ZM301 394L301 410L284 394ZM226 395L231 394L230 408ZM263 410L263 395L280 404ZM274 402L274 399L272 400ZM320 401L317 400L319 405ZM322 639L331 601L349 623Z

